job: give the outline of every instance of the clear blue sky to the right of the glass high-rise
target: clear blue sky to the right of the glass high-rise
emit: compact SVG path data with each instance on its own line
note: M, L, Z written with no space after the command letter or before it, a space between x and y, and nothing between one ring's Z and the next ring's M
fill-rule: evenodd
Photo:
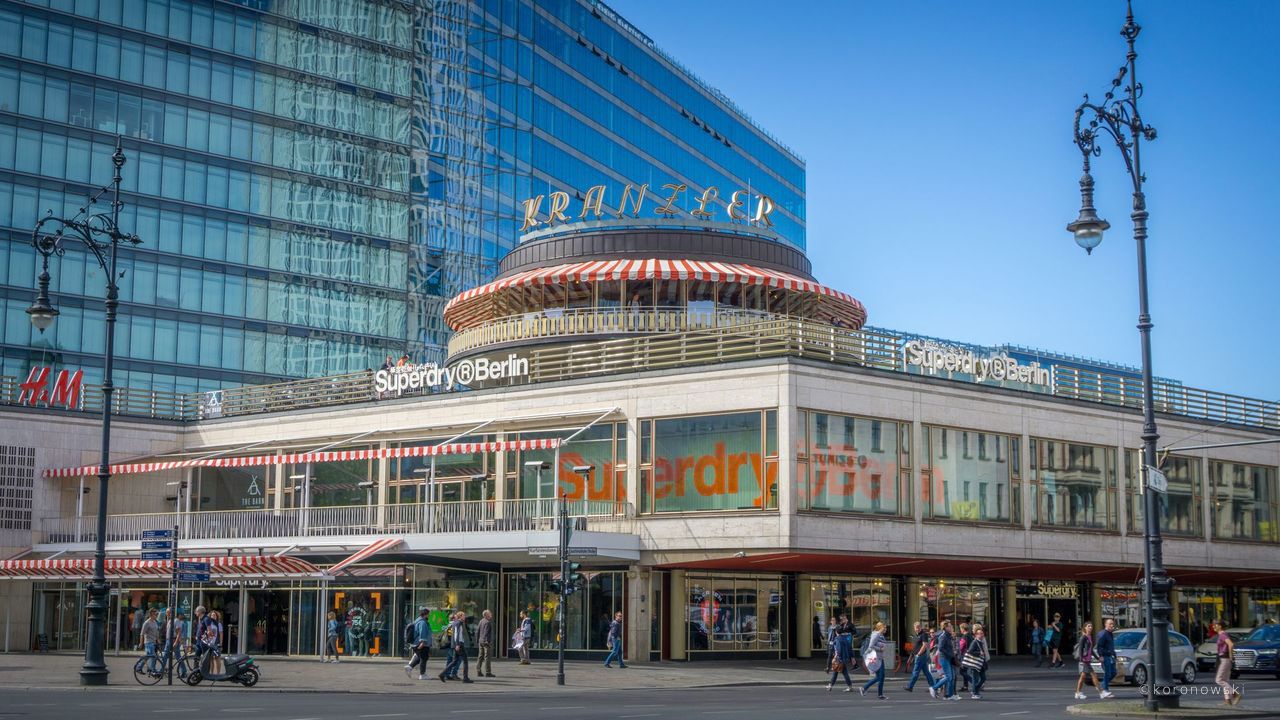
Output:
M1125 59L1123 0L612 0L808 163L819 281L869 324L1140 363L1132 186L1087 256L1071 119ZM1280 400L1280 3L1139 0L1157 377Z

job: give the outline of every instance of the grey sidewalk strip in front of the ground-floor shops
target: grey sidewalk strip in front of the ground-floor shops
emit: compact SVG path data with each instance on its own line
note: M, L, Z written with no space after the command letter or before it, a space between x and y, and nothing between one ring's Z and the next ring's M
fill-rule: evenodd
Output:
M133 679L133 662L138 653L109 655L106 666L111 671L109 687L129 691L164 689L159 685L143 687ZM436 674L444 669L442 656L433 655L426 680L404 676L403 661L344 660L325 664L316 659L257 656L262 680L253 692L348 692L348 693L439 693L439 692L536 692L556 688L554 660L535 660L532 665L520 665L515 660L494 662L495 678L472 678L475 684L440 683ZM0 688L76 689L79 688L81 655L13 653L0 655ZM609 670L599 661L566 661L564 684L579 689L645 689L645 688L705 688L732 685L791 685L824 684L823 660L732 660L694 662L634 662L625 670ZM471 661L475 671L475 659ZM992 661L992 675L1001 678L1046 675L1052 670L1037 670L1025 659L997 659ZM905 680L906 675L895 678ZM182 692L207 691L210 683L188 688L174 678L174 688ZM212 687L238 685L216 683Z

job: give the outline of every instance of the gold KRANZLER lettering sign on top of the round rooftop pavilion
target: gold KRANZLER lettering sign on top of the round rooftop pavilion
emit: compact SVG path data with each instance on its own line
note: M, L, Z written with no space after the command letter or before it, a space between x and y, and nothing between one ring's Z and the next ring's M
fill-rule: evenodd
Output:
M663 195L652 193L654 201L659 202L654 208L654 214L662 215L664 218L673 218L676 215L686 213L681 209L677 202L681 196L689 191L689 186L685 183L672 183L662 186L666 191ZM579 220L588 219L588 214L594 214L595 219L599 219L604 214L604 192L603 184L591 186L586 191L586 196L582 197L582 206L577 214ZM644 200L649 195L649 183L641 186L635 186L627 183L622 188L622 197L618 200L618 210L614 213L618 218L627 214L627 208L631 208L631 217L639 217L640 210L644 206ZM759 225L762 228L773 227L773 220L769 219L769 213L773 213L774 205L773 200L768 195L755 195L756 202L755 209L748 208L751 200L751 191L749 190L735 190L728 196L728 201L724 204L728 211L728 219L731 222L745 222L748 224ZM547 214L543 215L543 201L548 202ZM701 195L691 197L698 208L687 210L690 215L700 220L710 220L716 215L716 209L719 205L721 193L719 188L709 186L701 192ZM568 193L562 191L550 192L548 195L538 195L522 201L525 206L525 222L520 227L520 232L526 232L538 225L554 225L557 223L568 223L570 218L564 214L568 210Z

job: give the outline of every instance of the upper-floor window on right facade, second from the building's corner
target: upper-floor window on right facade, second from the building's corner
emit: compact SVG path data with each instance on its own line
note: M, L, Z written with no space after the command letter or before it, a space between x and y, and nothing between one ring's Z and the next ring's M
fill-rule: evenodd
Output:
M927 516L986 523L1021 521L1019 438L925 425Z

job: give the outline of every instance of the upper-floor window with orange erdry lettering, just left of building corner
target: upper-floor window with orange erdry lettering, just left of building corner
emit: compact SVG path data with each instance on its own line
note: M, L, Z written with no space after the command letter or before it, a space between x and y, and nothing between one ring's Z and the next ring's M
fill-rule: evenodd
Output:
M652 437L644 509L654 512L777 507L777 457L763 411L641 420ZM648 433L648 434L645 434ZM641 452L645 456L644 452ZM762 482L764 478L764 482Z

